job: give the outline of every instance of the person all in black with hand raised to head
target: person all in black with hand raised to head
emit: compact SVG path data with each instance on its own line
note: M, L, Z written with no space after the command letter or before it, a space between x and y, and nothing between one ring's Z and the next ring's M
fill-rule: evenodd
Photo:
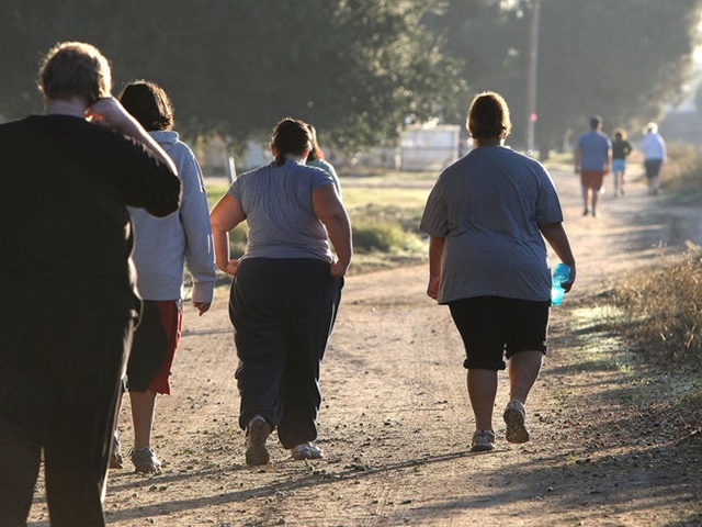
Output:
M52 526L100 527L140 311L127 205L170 214L180 180L99 49L58 44L39 74L45 114L0 125L0 523L26 525L43 451Z

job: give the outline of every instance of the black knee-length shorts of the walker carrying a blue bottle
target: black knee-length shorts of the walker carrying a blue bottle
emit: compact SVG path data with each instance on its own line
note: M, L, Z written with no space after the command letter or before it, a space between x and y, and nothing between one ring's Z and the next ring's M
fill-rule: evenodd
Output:
M464 368L503 370L520 351L546 352L551 302L476 296L449 303L466 359Z

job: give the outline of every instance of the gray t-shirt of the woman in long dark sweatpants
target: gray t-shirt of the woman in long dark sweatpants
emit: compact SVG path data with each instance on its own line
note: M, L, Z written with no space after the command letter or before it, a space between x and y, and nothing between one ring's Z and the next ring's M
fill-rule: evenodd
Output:
M327 231L313 210L312 193L332 184L324 170L288 159L239 176L228 193L249 226L244 258L318 258L332 261Z

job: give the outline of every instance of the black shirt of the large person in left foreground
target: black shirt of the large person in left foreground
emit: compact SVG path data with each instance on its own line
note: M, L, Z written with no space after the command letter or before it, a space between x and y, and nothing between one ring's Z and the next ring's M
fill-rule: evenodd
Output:
M3 313L132 316L126 206L163 216L180 180L144 145L68 115L0 125Z

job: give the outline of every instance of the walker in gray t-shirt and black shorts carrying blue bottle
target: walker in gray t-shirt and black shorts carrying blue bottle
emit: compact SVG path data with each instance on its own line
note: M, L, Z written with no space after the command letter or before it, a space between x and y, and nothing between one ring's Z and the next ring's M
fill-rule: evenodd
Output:
M448 304L465 347L476 430L471 448L495 448L498 371L509 361L509 442L530 439L525 403L546 351L551 276L544 239L576 262L551 176L539 161L503 146L509 108L498 93L473 99L467 130L475 148L446 167L431 190L420 228L429 239L427 294Z

